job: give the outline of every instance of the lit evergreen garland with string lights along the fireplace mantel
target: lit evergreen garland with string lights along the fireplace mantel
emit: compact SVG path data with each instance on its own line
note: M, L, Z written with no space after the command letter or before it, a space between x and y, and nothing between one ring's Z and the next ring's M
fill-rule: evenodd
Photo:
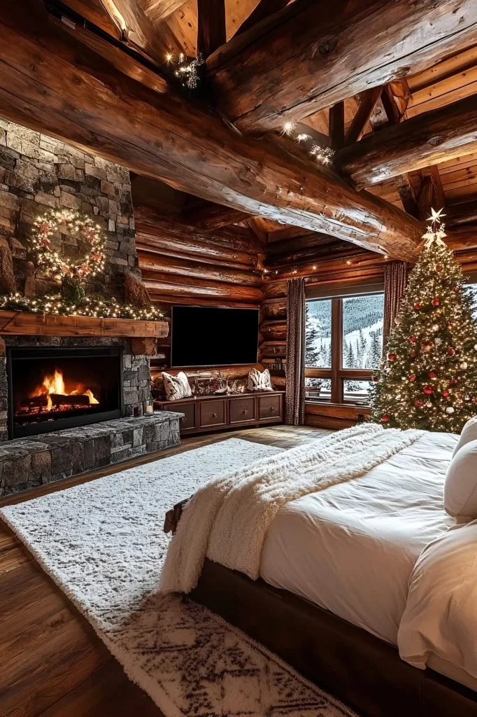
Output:
M140 321L160 321L164 314L155 306L139 308L131 304L120 304L115 299L102 297L83 299L82 305L64 299L61 294L28 298L16 292L0 298L0 309L4 311L30 311L32 313L57 316L90 316L95 318L129 318Z

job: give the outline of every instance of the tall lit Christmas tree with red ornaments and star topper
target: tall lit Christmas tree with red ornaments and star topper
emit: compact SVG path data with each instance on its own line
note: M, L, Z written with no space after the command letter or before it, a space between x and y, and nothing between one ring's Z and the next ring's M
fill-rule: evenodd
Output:
M477 414L477 335L471 294L448 249L440 212L424 235L373 376L372 419L384 426L461 432Z

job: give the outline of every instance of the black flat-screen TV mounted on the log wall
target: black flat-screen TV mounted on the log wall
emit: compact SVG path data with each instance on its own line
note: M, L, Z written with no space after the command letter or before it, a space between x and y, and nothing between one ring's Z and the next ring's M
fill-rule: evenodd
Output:
M256 364L259 310L173 306L170 364Z

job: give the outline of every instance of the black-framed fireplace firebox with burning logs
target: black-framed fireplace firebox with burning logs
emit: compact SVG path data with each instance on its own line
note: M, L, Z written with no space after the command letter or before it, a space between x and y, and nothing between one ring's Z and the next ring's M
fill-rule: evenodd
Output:
M8 348L9 438L120 418L122 349Z

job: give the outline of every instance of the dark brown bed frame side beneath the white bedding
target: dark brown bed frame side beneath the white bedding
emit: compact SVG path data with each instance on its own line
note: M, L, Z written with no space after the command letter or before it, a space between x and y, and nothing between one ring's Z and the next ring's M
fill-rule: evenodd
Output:
M411 667L370 632L261 579L206 560L191 597L362 717L477 717L473 690Z

